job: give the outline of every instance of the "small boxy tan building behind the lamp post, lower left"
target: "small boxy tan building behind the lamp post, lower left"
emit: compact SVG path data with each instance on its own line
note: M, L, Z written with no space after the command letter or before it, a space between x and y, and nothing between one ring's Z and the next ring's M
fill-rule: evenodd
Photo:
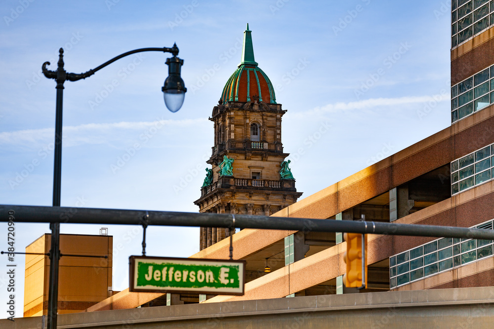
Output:
M27 253L47 253L50 235L44 234L26 247ZM59 261L58 313L81 312L108 297L112 286L113 237L61 234L60 251L65 255L105 256L89 258L62 256ZM24 316L47 314L49 258L26 255Z

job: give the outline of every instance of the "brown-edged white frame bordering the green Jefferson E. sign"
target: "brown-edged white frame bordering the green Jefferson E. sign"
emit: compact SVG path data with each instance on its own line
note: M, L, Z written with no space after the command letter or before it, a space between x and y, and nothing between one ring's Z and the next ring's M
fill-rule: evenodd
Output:
M211 264L217 264L217 263L232 263L232 264L241 264L242 265L242 272L243 274L241 275L242 279L242 292L218 292L215 291L214 289L211 288L211 290L201 290L201 291L195 291L195 288L189 288L189 289L181 289L181 288L176 288L176 289L141 289L141 288L136 288L134 286L134 279L135 279L135 264L136 264L136 259L146 259L146 260L169 260L169 261L198 261L202 263L211 263ZM214 295L232 295L232 296L242 296L245 294L245 284L246 284L246 260L239 259L239 260L232 260L232 259L209 259L209 258L179 258L179 257L158 257L158 256L130 256L129 257L129 292L162 292L162 293L199 293L199 294L214 294Z

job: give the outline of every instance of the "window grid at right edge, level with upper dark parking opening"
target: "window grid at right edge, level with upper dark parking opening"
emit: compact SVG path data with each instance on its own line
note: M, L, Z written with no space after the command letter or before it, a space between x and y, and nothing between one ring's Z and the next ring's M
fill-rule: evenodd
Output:
M494 177L494 144L451 162L451 195L491 181Z

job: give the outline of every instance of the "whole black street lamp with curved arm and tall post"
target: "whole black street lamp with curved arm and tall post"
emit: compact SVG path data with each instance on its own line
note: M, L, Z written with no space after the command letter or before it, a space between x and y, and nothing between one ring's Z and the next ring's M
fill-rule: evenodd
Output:
M55 79L57 82L57 100L56 100L56 113L55 113L55 160L53 165L53 207L60 207L60 187L62 176L62 108L63 108L63 89L64 82L77 81L85 79L88 76L93 75L97 71L103 69L105 66L125 57L144 51L161 51L165 53L171 53L173 57L166 59L166 65L168 65L168 77L165 80L165 84L162 88L164 93L165 105L168 110L176 112L180 110L184 102L185 88L184 81L180 77L180 68L183 65L183 60L177 57L178 47L173 44L173 47L167 48L141 48L131 51L127 51L111 60L101 64L97 68L89 70L85 73L67 73L64 70L63 62L63 49L60 48L58 55L58 68L56 71L50 71L46 69L50 62L44 62L41 66L41 70L49 79ZM50 281L48 291L48 322L47 328L56 329L57 326L57 309L58 309L58 260L60 258L60 223L50 223L51 229L51 249L49 252L50 257Z

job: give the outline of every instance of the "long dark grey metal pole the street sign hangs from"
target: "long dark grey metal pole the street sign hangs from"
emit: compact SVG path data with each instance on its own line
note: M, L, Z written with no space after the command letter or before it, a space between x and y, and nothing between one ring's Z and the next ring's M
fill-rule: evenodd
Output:
M0 205L0 221L79 224L238 227L303 232L348 232L446 238L494 239L494 230L373 221L286 218L270 216L165 211ZM233 216L235 224L233 225Z

